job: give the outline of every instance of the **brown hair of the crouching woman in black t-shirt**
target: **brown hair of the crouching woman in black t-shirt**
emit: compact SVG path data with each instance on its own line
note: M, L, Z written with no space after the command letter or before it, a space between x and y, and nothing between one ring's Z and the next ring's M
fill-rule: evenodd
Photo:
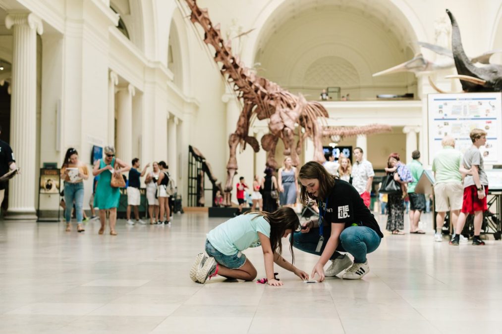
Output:
M305 163L298 174L299 179L319 180L318 197L313 197L307 192L307 188L300 183L300 201L307 205L310 199L317 200L325 198L335 186L335 177L329 174L326 169L317 161Z

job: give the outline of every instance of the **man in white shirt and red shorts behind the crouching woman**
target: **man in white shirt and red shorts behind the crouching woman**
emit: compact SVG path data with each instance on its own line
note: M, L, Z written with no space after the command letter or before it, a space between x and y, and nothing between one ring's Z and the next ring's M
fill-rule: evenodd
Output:
M375 173L373 172L373 165L368 160L362 158L362 148L355 147L353 152L355 162L352 165L352 186L357 190L361 196L364 205L369 208L371 203L371 184Z

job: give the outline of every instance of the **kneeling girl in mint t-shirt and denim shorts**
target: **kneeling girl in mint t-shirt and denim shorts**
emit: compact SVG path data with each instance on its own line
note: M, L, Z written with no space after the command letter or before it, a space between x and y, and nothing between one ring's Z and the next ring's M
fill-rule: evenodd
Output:
M269 285L283 285L283 282L274 277L274 262L301 279L308 279L306 272L281 256L281 238L286 238L299 227L298 216L291 208L281 208L272 213L246 212L232 218L207 234L205 250L209 257L203 253L196 256L190 278L202 284L216 275L252 281L256 278L257 271L242 251L262 246ZM292 244L293 238L290 241L290 251L294 262Z

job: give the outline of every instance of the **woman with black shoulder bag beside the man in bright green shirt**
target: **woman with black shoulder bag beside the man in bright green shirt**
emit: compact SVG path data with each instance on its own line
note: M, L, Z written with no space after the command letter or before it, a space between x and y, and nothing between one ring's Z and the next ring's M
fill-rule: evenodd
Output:
M387 169L389 169L389 172L387 172L388 175L394 173L394 181L396 181L400 185L400 188L397 193L389 194L389 196L387 197L388 215L386 229L392 234L403 235L404 232L402 232L401 230L404 229L405 209L403 205L402 189L405 188L405 185L408 182L413 181L413 177L411 176L410 170L408 170L406 165L400 162L398 153L391 153L389 155L389 158L387 159Z

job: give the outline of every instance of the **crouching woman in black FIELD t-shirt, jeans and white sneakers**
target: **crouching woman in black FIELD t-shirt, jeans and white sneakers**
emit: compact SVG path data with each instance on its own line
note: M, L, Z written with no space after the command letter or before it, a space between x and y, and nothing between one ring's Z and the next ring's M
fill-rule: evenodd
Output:
M303 205L314 200L319 206L319 220L303 224L293 239L293 247L321 256L312 277L317 273L322 282L325 276L335 276L350 267L343 278L362 278L369 272L366 254L378 248L384 235L359 193L349 183L331 176L316 161L302 166L299 180ZM354 263L338 251L350 253ZM328 260L331 265L325 272Z

